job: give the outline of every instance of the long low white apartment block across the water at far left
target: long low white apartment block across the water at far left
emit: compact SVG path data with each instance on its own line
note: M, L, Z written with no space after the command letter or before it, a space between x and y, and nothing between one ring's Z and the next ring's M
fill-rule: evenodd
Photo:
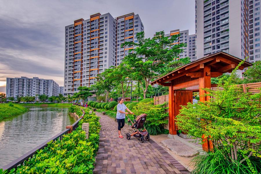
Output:
M6 78L6 97L36 96L46 94L59 95L59 85L54 80L39 79L38 77Z

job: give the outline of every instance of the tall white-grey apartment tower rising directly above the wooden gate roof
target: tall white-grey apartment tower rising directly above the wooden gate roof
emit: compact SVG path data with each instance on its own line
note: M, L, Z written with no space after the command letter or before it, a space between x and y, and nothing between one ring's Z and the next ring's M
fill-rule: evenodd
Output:
M249 0L196 0L196 55L249 56ZM249 61L249 59L247 59Z

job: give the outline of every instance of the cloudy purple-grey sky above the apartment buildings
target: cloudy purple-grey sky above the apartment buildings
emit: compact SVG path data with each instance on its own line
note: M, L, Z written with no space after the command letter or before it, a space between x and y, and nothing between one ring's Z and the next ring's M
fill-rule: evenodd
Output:
M64 85L65 26L95 13L139 14L146 37L195 34L194 0L0 0L0 93L6 77L39 77Z

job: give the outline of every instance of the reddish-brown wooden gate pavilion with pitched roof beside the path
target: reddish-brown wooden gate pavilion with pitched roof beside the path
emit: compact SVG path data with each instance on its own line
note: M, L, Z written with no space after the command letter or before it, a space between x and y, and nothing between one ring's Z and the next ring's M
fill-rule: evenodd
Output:
M193 92L195 91L199 91L200 102L209 100L210 96L204 96L205 90L203 88L216 86L211 84L210 78L218 77L223 73L231 73L241 61L242 59L225 52L218 52L186 64L151 82L151 85L169 86L169 135L177 134L178 128L174 119L179 114L180 105L192 102ZM239 69L243 70L251 65L251 63L244 61ZM186 88L186 90L180 90L182 88ZM202 147L209 149L209 142L204 143Z

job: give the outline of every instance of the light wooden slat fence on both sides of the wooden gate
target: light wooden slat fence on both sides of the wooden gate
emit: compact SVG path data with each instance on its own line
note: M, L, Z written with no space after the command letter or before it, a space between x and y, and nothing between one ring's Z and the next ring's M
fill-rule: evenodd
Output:
M251 93L251 94L261 93L261 91L260 91L261 82L240 84L240 85L237 85L237 86L242 87L244 93ZM222 90L223 88L212 87L211 89L212 90L218 90L218 89ZM154 97L154 105L163 104L165 102L166 102L165 107L168 107L168 95L162 95L162 96L159 96L159 97ZM165 111L168 113L168 109L165 109ZM166 117L166 119L168 120L168 117ZM164 128L168 129L168 124L165 124Z

